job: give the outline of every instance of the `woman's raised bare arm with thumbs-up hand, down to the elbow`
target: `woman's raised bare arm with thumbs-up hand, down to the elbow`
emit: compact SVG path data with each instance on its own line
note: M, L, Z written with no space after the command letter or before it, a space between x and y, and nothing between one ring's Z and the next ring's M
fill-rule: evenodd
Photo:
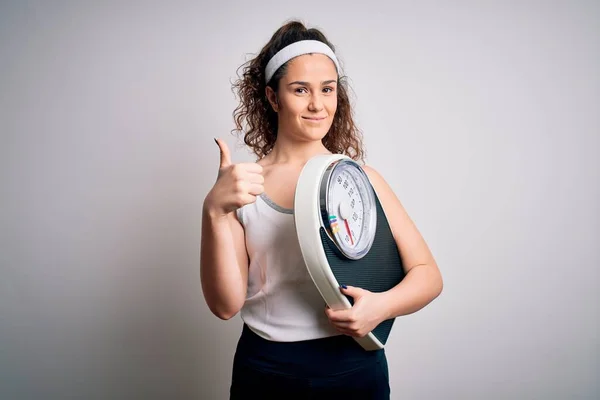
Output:
M221 150L217 182L202 207L200 279L204 300L221 319L236 315L246 300L248 252L244 228L235 211L256 201L264 190L262 167L256 163L231 163L229 148Z

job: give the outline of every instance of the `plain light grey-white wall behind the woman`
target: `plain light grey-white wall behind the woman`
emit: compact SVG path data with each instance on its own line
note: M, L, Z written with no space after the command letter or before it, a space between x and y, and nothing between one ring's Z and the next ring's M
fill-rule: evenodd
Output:
M392 399L600 397L594 1L0 5L0 398L225 399L201 205L236 69L290 18L350 77L367 161L443 273Z

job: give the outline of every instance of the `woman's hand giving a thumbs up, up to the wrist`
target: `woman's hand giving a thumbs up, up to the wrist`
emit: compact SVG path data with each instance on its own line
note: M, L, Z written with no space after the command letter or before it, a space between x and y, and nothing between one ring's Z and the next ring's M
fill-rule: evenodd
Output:
M264 191L263 168L257 163L231 162L227 143L215 139L221 151L217 181L204 201L211 215L225 216L246 204L256 201Z

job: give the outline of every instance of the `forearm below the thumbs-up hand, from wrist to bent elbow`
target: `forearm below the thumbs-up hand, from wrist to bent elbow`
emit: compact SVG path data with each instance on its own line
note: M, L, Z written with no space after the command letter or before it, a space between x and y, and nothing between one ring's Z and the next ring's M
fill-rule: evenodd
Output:
M247 276L242 273L229 218L215 217L205 208L202 213L200 277L202 291L210 310L229 319L242 307Z

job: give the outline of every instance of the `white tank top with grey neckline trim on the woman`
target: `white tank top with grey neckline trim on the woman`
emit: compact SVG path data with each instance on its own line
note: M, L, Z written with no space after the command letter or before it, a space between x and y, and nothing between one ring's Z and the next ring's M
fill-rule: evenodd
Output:
M237 210L250 258L244 323L267 340L293 342L339 335L310 278L296 236L294 212L266 194Z

